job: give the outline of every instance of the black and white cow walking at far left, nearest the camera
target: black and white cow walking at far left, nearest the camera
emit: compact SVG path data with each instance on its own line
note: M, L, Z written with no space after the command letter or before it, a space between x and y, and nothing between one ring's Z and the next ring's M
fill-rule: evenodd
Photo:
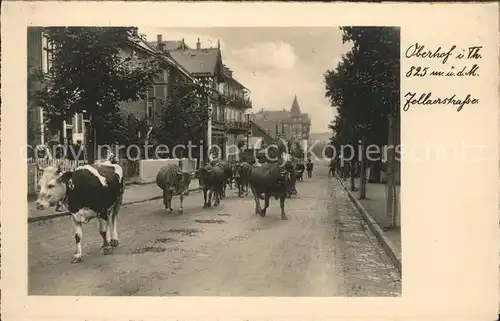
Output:
M71 262L82 260L82 224L96 217L99 219L103 253L111 254L112 248L119 244L116 228L124 192L122 167L105 162L66 172L55 166L40 170L43 175L38 182L40 192L36 207L45 210L63 202L70 212L76 241L76 252Z

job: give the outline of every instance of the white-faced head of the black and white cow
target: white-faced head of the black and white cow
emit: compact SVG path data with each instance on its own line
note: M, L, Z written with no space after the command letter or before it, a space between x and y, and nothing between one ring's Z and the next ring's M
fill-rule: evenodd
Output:
M43 174L38 181L40 192L35 204L37 209L45 210L55 206L66 197L67 183L72 172L63 172L60 166L47 166L45 168L38 166L38 169Z

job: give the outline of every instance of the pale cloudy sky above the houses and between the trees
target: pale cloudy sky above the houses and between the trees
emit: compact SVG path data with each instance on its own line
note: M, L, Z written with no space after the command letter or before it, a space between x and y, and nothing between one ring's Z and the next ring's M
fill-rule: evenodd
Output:
M325 98L324 73L334 69L350 49L342 44L338 27L139 27L148 41L181 40L196 48L216 47L220 40L223 63L247 87L254 112L290 110L297 95L303 113L311 117L311 132L327 132L335 110Z

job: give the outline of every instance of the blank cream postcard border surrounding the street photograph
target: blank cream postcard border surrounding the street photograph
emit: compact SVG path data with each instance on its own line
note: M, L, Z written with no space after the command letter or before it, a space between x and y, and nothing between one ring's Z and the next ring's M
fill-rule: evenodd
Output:
M444 137L444 143L453 144L453 137L460 137L464 126L469 126L475 132L471 137L485 144L488 155L478 166L464 169L461 167L463 164L455 164L456 171L453 173L456 172L456 177L447 177L444 183L429 182L426 188L422 188L422 173L439 175L441 165L433 162L418 166L403 163L403 296L400 298L27 297L27 205L25 180L22 179L26 177L26 166L19 161L17 153L9 151L19 150L19 146L26 141L28 25L401 26L402 43L456 39L457 43L468 44L477 36L485 46L482 62L485 75L481 84L471 80L470 86L479 87L477 92L481 100L487 102L481 105L482 110L476 111L481 115L466 111L460 118L438 112L437 108L428 114L423 111L403 113L402 139L406 144L418 143L432 137L429 136L431 134L446 132L446 135L436 136L433 141ZM406 38L410 34L411 37L419 35L419 39ZM6 320L14 317L19 320L148 320L157 317L310 320L335 316L337 319L418 317L459 320L495 316L498 309L495 276L498 277L499 248L497 41L498 5L491 3L3 2L3 317ZM402 78L402 94L407 86L407 80ZM418 85L411 86L415 88ZM468 120L464 120L464 115ZM439 130L436 128L438 124L441 126ZM460 189L460 184L464 182L459 178L463 179L464 171L467 171L467 177L473 184L480 182L480 185L471 186L469 191ZM436 194L440 194L442 204L429 204L427 197L431 195L436 201ZM447 205L457 200L461 200L462 209L454 208L458 212L447 213L453 208ZM437 212L438 209L445 212ZM422 232L419 229L425 224L428 229ZM436 234L439 230L441 235ZM68 242L71 242L69 234ZM438 252L447 246L446 252ZM460 253L465 256L463 260L457 260ZM453 266L450 266L450 258L455 259ZM434 272L422 275L419 270Z

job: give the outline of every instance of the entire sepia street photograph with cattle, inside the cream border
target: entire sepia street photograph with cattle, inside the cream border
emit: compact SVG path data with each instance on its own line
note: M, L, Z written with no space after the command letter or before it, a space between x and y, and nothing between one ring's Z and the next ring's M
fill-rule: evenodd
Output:
M28 27L28 295L401 295L398 27Z

